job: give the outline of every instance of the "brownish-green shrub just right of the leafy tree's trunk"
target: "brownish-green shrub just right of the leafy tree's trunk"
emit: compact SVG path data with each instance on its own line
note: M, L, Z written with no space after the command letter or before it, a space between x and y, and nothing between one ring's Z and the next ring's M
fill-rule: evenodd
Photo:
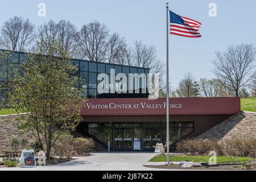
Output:
M73 141L73 135L71 135L70 133L61 134L57 139L56 143L54 144L54 146L52 147L53 155L59 156L59 158L61 159L71 159L72 155L75 153Z

